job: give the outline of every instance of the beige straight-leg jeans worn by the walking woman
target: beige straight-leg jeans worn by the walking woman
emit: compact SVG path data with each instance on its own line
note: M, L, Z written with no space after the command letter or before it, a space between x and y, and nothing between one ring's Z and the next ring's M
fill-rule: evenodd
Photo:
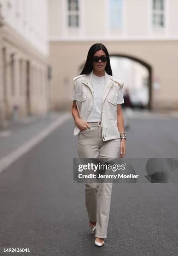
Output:
M120 138L103 141L101 123L88 123L90 128L78 135L79 158L118 158ZM85 183L88 218L96 221L95 237L106 238L113 183Z

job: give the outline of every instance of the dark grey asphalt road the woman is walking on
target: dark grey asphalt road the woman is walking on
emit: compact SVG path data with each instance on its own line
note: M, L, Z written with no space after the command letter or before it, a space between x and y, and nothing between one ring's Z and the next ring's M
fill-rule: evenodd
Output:
M128 158L178 158L178 119L132 119ZM73 120L0 174L0 255L178 255L178 184L113 184L108 237L94 246ZM3 253L30 248L29 253Z

